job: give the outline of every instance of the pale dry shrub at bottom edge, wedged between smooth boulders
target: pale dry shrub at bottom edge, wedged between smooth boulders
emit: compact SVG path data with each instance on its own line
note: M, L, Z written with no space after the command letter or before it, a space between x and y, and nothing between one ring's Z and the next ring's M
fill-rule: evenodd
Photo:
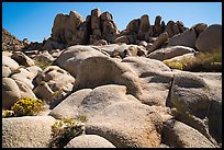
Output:
M75 122L72 118L64 118L57 120L52 126L52 141L51 148L63 148L72 138L85 132L85 127L81 122Z

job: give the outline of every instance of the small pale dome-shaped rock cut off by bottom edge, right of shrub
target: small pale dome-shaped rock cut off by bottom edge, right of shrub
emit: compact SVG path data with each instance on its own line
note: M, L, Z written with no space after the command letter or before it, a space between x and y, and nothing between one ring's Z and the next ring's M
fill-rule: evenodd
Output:
M71 139L65 148L115 148L98 135L82 135Z

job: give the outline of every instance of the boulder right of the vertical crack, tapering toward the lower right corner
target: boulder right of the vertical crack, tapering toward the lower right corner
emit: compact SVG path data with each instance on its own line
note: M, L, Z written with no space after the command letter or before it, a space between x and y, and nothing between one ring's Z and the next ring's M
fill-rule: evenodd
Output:
M171 88L171 104L180 122L193 127L216 145L209 132L206 117L211 107L206 82L192 73L177 73Z

